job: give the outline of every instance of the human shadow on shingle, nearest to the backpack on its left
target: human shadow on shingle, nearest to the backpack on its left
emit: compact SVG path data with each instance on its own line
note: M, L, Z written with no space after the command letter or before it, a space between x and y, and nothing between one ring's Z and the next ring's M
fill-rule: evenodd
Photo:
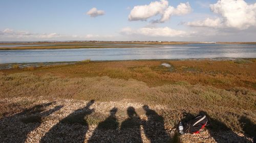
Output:
M171 142L172 140L164 128L164 118L147 105L144 105L143 109L147 116L147 121L143 123L144 133L151 143Z

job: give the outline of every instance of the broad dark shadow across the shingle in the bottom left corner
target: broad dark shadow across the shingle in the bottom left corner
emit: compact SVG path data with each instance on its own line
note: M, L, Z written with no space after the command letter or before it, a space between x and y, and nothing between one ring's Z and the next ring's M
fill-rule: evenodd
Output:
M63 106L55 106L46 110L55 102L35 105L16 115L0 120L0 142L25 142L27 135L45 121L45 118Z

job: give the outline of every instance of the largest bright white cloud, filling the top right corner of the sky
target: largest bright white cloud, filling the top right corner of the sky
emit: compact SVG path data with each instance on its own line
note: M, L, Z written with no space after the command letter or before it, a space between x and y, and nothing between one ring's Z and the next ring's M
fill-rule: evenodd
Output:
M210 5L210 10L218 14L219 18L188 22L187 25L230 27L239 30L256 26L256 3L248 5L244 0L219 0L216 4Z

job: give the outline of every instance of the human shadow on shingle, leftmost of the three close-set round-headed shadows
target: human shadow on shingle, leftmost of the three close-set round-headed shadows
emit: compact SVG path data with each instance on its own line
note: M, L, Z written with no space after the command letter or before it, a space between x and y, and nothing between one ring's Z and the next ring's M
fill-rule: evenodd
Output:
M94 130L88 142L119 142L118 126L119 123L116 118L117 108L114 107L110 110L110 115L104 121L100 122Z

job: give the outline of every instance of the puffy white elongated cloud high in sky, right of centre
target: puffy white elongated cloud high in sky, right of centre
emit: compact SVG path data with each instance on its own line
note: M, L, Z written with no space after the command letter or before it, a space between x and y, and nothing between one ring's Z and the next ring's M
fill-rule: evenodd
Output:
M189 3L180 3L177 8L169 6L167 0L160 0L151 2L149 5L135 6L130 15L128 16L130 21L146 21L148 18L161 15L161 18L155 20L155 22L165 22L169 20L170 16L173 15L185 15L191 12Z

